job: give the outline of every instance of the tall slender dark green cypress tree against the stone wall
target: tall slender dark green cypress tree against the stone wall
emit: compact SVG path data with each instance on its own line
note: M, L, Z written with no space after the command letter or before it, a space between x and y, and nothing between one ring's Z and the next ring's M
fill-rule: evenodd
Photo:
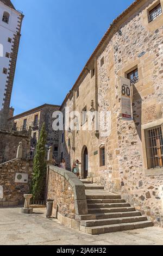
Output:
M46 180L46 139L45 123L43 123L34 157L32 178L33 200L43 200L44 198Z

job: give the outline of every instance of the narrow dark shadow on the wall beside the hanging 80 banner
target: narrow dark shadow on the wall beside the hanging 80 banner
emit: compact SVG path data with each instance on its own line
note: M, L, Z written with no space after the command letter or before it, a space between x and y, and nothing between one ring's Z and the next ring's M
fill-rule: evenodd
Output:
M139 92L136 89L135 84L133 85L133 118L136 127L137 134L139 135L140 141L141 136L141 119L142 119L142 99Z

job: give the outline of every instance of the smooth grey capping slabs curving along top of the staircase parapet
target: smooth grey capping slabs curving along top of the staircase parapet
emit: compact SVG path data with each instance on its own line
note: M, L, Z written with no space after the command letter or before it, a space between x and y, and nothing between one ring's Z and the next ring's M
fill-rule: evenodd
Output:
M72 172L69 172L68 170L61 169L59 167L55 167L52 165L47 166L47 171L53 170L55 173L64 176L64 178L68 181L68 183L73 188L73 194L74 194L74 206L76 210L76 215L86 215L88 214L87 210L87 201L85 196L85 186L82 183L82 181L79 180L79 178ZM47 174L48 177L48 174ZM48 180L47 180L48 184Z

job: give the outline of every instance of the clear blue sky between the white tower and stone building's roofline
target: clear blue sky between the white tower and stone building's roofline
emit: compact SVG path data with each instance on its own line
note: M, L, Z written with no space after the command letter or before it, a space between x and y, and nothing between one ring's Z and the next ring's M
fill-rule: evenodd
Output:
M12 0L24 20L11 106L60 105L110 23L133 0Z

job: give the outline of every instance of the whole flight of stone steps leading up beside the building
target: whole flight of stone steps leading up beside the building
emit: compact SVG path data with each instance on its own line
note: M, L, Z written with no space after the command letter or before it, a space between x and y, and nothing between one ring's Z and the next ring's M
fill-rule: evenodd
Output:
M89 214L78 216L80 231L98 235L153 226L146 216L142 216L121 196L105 191L104 187L93 185L90 181L82 182Z

